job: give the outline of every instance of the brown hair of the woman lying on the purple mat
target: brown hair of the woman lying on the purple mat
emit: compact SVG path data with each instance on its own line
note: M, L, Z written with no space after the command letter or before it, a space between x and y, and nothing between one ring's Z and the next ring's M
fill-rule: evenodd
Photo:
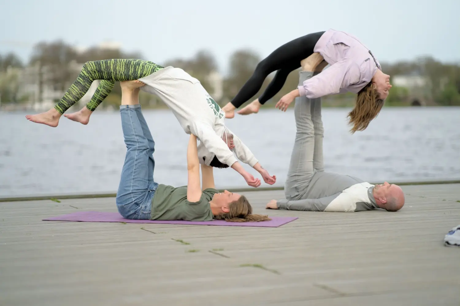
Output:
M230 211L226 214L218 214L216 219L228 222L259 222L271 220L268 216L253 214L253 208L251 204L249 204L246 196L240 196L238 200L231 202L229 209Z

